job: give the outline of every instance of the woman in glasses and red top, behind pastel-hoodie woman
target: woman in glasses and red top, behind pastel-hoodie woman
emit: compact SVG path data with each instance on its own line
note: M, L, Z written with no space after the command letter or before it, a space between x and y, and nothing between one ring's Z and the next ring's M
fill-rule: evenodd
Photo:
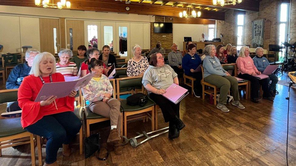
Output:
M99 55L100 55L100 51L96 47L90 48L86 51L86 56L88 59L82 62L81 64L81 77L86 76L86 74L90 73L88 70L88 64L90 62L90 59L92 58L99 59ZM108 73L109 70L106 68L105 63L103 64L103 66L104 66L103 74Z

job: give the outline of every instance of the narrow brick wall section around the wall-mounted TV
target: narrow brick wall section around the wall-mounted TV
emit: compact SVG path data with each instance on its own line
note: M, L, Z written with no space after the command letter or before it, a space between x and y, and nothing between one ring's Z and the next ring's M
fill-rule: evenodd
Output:
M170 20L171 17L165 17L165 22L173 22ZM164 22L164 16L155 16L155 22ZM166 36L166 37L162 37ZM150 23L150 47L154 48L156 43L160 41L161 47L170 49L173 44L173 34L160 34L154 33L154 24Z

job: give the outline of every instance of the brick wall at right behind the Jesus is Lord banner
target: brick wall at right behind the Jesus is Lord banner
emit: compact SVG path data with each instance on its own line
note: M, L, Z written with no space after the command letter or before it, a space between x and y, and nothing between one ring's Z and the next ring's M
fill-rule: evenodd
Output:
M291 27L290 27L290 43L296 41L296 1L291 1ZM282 0L262 0L260 2L259 12L246 11L244 24L244 44L251 45L252 42L252 20L257 17L270 20L270 27L265 26L264 31L270 29L270 36L264 35L264 49L268 49L269 44L278 44L278 29L279 29L279 12ZM225 21L217 21L217 37L220 33L224 35L222 41L224 44L230 43L237 45L237 11L229 10L225 13Z

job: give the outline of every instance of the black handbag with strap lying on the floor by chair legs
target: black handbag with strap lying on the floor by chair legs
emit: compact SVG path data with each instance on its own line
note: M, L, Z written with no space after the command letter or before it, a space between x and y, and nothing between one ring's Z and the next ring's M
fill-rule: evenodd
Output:
M101 146L101 136L100 133L96 133L93 134L87 138L85 138L84 140L84 155L85 158L89 158L91 155L93 155L93 153L96 152L96 158L102 161L107 160L108 156L109 156L109 152L107 150L107 155L105 158L100 158L99 157L99 153L101 148L104 148Z

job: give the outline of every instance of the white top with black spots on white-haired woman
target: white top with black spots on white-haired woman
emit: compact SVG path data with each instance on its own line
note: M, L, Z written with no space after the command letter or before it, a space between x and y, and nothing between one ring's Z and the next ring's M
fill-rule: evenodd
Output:
M149 67L149 63L147 60L147 57L141 56L141 59L139 61L133 60L131 58L127 62L127 69L126 69L126 75L128 77L138 76L141 73L144 73Z

